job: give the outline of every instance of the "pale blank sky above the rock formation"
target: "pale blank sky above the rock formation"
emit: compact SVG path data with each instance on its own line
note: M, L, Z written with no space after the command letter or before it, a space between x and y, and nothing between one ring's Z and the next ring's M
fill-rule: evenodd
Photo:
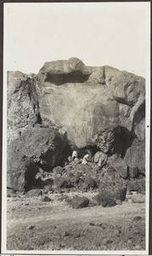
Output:
M145 77L149 3L4 3L4 8L7 70L38 73L45 61L77 57L87 66L109 65Z

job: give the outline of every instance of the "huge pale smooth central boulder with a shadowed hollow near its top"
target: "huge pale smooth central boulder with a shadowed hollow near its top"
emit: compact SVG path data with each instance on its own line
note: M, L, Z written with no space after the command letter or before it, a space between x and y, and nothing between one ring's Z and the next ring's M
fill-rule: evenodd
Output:
M122 154L127 136L121 127L132 134L144 127L144 85L132 73L87 67L76 58L46 62L37 74L41 118L63 126L78 148L96 145L106 154Z

